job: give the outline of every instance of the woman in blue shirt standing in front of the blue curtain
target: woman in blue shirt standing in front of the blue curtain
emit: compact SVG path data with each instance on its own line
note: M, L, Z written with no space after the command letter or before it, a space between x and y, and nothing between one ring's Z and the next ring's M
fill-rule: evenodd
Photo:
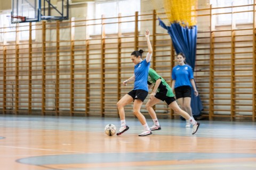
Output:
M198 96L198 91L196 90L193 70L189 65L186 64L185 60L186 57L183 53L179 53L177 55L178 65L172 69L172 89L175 91L175 96L181 109L193 117L190 106L191 87L195 91L195 96ZM190 124L187 121L186 128L189 127Z

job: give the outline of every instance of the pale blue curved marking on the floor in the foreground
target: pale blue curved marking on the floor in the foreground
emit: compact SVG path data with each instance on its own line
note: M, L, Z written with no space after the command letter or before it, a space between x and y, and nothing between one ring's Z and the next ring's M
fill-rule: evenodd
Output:
M18 163L29 165L59 164L100 164L118 162L145 162L160 160L198 160L198 159L232 159L255 158L256 154L234 153L186 153L186 152L129 152L129 153L92 153L50 155L18 159Z

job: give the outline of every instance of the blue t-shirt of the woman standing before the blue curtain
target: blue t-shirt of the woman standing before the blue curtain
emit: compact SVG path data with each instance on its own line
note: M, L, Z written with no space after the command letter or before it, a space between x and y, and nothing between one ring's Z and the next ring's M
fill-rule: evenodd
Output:
M185 64L173 67L172 80L175 80L174 88L180 86L192 87L190 79L194 79L194 75L193 70L189 65Z

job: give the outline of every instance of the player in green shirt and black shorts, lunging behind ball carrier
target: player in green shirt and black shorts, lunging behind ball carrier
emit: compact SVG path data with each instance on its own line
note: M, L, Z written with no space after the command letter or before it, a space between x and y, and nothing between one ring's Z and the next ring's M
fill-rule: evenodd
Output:
M154 125L151 126L150 130L161 130L161 125L159 124L156 113L153 109L153 106L158 104L161 100L165 101L166 104L173 109L173 111L180 116L184 117L189 121L191 125L193 125L193 133L195 134L199 128L200 123L196 122L193 117L191 117L187 112L183 111L176 102L174 98L174 94L172 88L169 86L166 81L157 74L157 72L151 68L149 68L148 72L148 89L153 88L150 99L146 104L147 111L151 118L153 119Z

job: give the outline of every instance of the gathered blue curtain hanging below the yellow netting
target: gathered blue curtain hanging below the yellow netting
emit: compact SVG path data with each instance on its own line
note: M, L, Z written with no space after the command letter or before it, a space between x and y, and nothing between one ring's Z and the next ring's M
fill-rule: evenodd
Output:
M172 23L170 26L166 26L164 22L159 19L159 25L167 30L171 36L175 52L183 53L186 56L186 62L195 70L196 62L196 38L197 38L197 25L193 27L181 27L179 23ZM193 116L201 115L203 110L202 101L198 96L194 95L194 89L191 88L191 108Z

